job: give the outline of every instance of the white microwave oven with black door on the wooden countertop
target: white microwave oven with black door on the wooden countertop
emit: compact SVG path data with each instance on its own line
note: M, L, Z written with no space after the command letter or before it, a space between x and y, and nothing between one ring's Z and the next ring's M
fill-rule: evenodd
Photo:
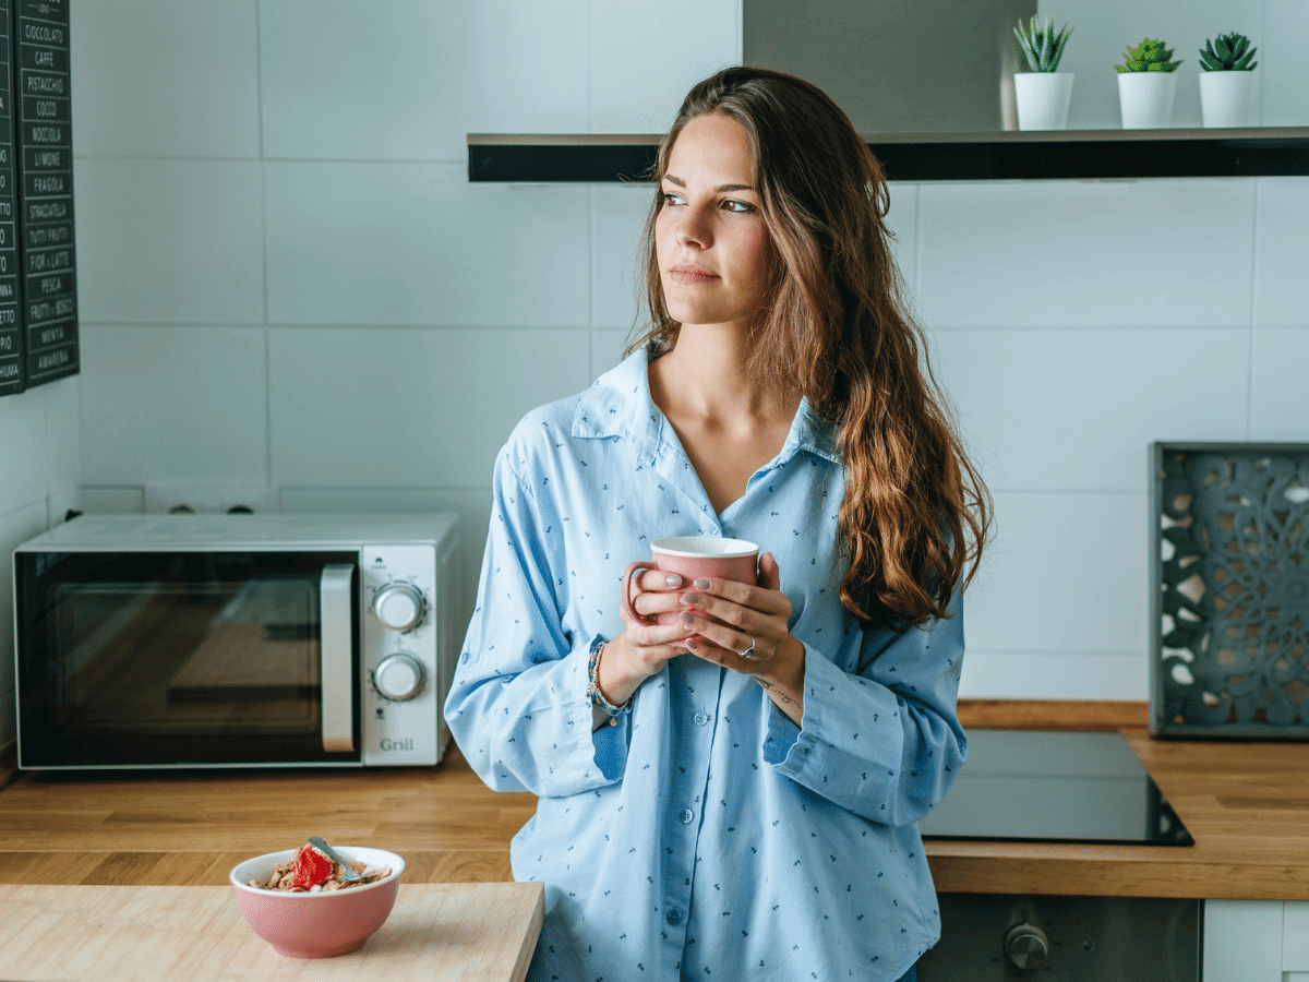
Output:
M24 770L435 765L450 515L82 515L13 554Z

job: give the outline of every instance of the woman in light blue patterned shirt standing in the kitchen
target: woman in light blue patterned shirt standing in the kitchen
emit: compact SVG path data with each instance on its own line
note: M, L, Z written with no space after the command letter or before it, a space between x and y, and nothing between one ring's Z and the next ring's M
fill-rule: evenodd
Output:
M539 797L512 848L546 885L533 979L912 978L986 491L901 309L885 178L821 90L715 75L657 178L653 325L501 450L446 716ZM758 584L649 571L624 621L627 563L686 534L759 542Z

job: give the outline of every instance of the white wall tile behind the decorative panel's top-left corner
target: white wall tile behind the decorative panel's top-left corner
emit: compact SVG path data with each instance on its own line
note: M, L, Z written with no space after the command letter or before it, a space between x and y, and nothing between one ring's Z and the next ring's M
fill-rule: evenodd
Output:
M1151 440L1244 439L1249 346L1249 330L1206 327L936 335L987 483L1043 491L1141 490Z

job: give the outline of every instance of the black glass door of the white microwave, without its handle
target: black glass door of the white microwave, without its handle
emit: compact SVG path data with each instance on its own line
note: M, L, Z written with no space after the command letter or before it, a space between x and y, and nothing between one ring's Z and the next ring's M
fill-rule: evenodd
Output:
M319 596L323 570L346 564L357 601L357 554L20 558L31 765L340 758L323 749ZM357 632L356 618L353 677Z

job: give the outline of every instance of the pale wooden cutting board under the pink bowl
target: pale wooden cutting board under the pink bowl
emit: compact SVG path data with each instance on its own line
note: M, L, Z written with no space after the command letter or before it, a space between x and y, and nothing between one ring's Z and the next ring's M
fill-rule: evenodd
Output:
M402 884L356 952L288 958L230 886L0 885L0 977L14 982L521 982L545 915L535 882Z

